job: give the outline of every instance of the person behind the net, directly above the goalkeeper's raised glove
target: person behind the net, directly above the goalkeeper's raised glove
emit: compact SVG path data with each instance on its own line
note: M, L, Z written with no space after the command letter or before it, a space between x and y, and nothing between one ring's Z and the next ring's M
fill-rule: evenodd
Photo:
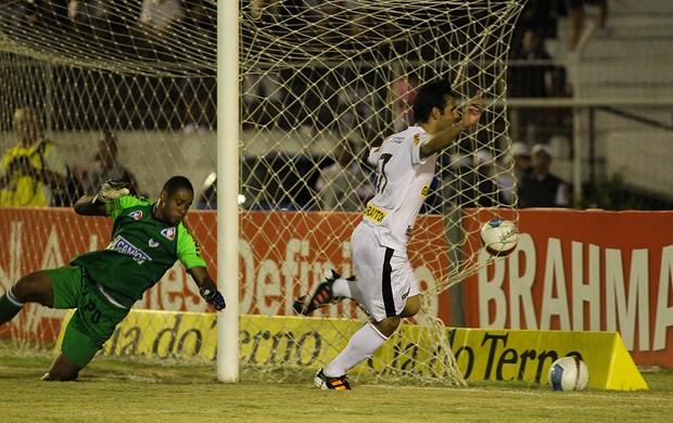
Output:
M117 162L119 146L117 139L112 132L103 132L98 142L98 152L93 163L84 169L79 180L84 192L97 192L103 182L107 180L123 181L131 195L138 195L138 182L134 174Z

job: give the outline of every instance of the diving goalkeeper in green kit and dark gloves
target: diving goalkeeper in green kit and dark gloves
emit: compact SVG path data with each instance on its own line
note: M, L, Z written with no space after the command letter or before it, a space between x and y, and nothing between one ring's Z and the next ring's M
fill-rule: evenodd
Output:
M75 257L68 266L28 274L0 297L0 325L28 302L77 309L43 381L76 380L134 303L176 260L182 262L209 305L216 310L226 307L196 240L182 222L193 197L191 182L176 176L166 181L157 201L128 195L126 188L114 182L105 182L96 195L77 201L77 214L114 219L110 244Z

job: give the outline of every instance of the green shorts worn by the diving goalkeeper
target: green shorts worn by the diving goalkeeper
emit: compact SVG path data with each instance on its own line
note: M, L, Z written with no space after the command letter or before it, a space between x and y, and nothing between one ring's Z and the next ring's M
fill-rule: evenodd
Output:
M112 335L128 309L112 305L79 266L45 270L53 286L52 308L76 308L61 350L84 369Z

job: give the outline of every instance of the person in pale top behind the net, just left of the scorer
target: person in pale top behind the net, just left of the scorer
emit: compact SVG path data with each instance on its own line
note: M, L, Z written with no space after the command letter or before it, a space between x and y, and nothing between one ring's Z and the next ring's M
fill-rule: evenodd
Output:
M373 187L356 159L357 143L344 139L334 148L334 164L320 169L316 181L321 210L360 211L373 196Z

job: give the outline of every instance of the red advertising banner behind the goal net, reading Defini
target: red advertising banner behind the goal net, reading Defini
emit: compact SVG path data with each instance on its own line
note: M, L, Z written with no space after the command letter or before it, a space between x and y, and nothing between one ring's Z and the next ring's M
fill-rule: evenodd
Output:
M240 311L244 315L292 316L292 303L310 292L325 271L353 274L350 239L361 215L347 213L244 211L241 214ZM216 214L193 210L188 226L201 243L208 270L217 278ZM434 285L448 268L443 219L421 217L409 258L423 289ZM0 293L22 275L66 265L74 256L104 248L112 219L85 217L67 208L0 208ZM432 259L428 259L432 252ZM234 283L238 283L236 281ZM228 283L225 281L224 283ZM448 296L436 298L433 309L450 315ZM211 310L180 264L166 272L134 308L202 312ZM212 310L211 310L212 311ZM326 317L355 317L355 304L340 304L321 311ZM13 331L43 342L55 339L64 312L28 305L13 321ZM0 336L9 336L0 330Z

